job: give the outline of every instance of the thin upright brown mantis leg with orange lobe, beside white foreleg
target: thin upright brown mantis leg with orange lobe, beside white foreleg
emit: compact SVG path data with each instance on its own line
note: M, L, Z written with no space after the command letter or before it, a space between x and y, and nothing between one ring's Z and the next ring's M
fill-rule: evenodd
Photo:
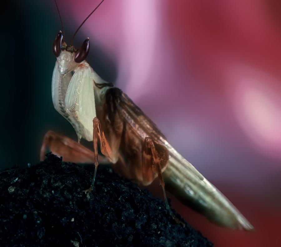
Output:
M97 167L99 165L98 152L97 152L98 151L97 150L98 139L100 140L100 144L101 144L101 153L103 155L105 155L106 157L108 157L110 160L114 160L114 155L112 153L112 150L106 140L104 132L101 129L101 122L96 117L93 119L93 127L94 127L93 147L94 147L95 173L94 173L94 177L93 177L91 186L90 186L90 188L88 188L84 191L85 193L90 192L94 188L94 184L95 184L96 171L97 171Z

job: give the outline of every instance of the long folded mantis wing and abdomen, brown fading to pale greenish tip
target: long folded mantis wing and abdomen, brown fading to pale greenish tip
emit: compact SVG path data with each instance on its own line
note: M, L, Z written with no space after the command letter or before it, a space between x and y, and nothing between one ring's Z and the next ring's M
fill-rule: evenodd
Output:
M151 137L169 150L169 164L163 172L168 191L219 226L239 230L254 229L233 204L169 144L157 126L122 92L117 108L141 138Z

